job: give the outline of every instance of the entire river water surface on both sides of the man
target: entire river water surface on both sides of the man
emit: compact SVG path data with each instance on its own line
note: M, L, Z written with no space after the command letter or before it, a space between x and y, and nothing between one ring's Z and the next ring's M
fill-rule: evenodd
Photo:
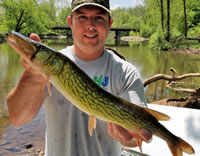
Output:
M64 41L46 41L50 47L57 50L66 47ZM200 73L200 56L189 56L180 53L158 52L146 45L112 46L133 63L145 80L154 74L171 74L169 69L175 68L178 75ZM0 155L31 155L44 148L44 111L27 125L14 127L8 120L6 96L16 85L23 68L19 64L19 56L7 43L0 44ZM188 82L200 84L198 78L188 79ZM145 88L147 101L152 102L165 97L182 97L181 93L165 88L165 81L152 83ZM29 148L28 148L29 147Z

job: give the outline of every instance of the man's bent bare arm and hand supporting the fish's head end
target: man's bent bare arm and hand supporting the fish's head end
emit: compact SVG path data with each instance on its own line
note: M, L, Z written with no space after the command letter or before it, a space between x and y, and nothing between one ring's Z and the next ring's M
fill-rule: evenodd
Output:
M40 41L37 35L30 36L31 39ZM20 126L31 121L39 112L46 97L45 86L47 80L28 63L21 59L24 71L17 84L7 96L7 105L10 121Z

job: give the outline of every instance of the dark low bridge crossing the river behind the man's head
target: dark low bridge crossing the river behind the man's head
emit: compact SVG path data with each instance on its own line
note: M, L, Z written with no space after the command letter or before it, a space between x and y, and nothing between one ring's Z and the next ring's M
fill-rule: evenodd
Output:
M70 30L69 26L55 26L51 28L52 30ZM121 32L130 32L130 31L134 31L137 32L139 30L137 30L136 28L112 28L110 29L110 31L114 31L115 32L115 44L119 45L120 44L120 37L121 37ZM70 34L67 34L70 35Z

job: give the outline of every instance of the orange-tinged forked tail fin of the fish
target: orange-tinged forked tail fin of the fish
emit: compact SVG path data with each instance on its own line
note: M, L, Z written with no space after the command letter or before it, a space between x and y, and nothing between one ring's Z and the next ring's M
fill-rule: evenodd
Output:
M173 156L182 156L183 152L187 154L195 153L193 147L179 137L178 137L178 143L176 145L172 145L168 143L168 146Z

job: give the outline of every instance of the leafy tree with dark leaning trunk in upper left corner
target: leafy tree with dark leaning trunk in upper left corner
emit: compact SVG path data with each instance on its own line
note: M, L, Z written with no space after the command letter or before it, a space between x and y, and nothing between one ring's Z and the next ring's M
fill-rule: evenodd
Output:
M48 15L41 12L37 0L1 0L0 8L3 8L3 24L8 31L15 30L25 35L48 31Z

